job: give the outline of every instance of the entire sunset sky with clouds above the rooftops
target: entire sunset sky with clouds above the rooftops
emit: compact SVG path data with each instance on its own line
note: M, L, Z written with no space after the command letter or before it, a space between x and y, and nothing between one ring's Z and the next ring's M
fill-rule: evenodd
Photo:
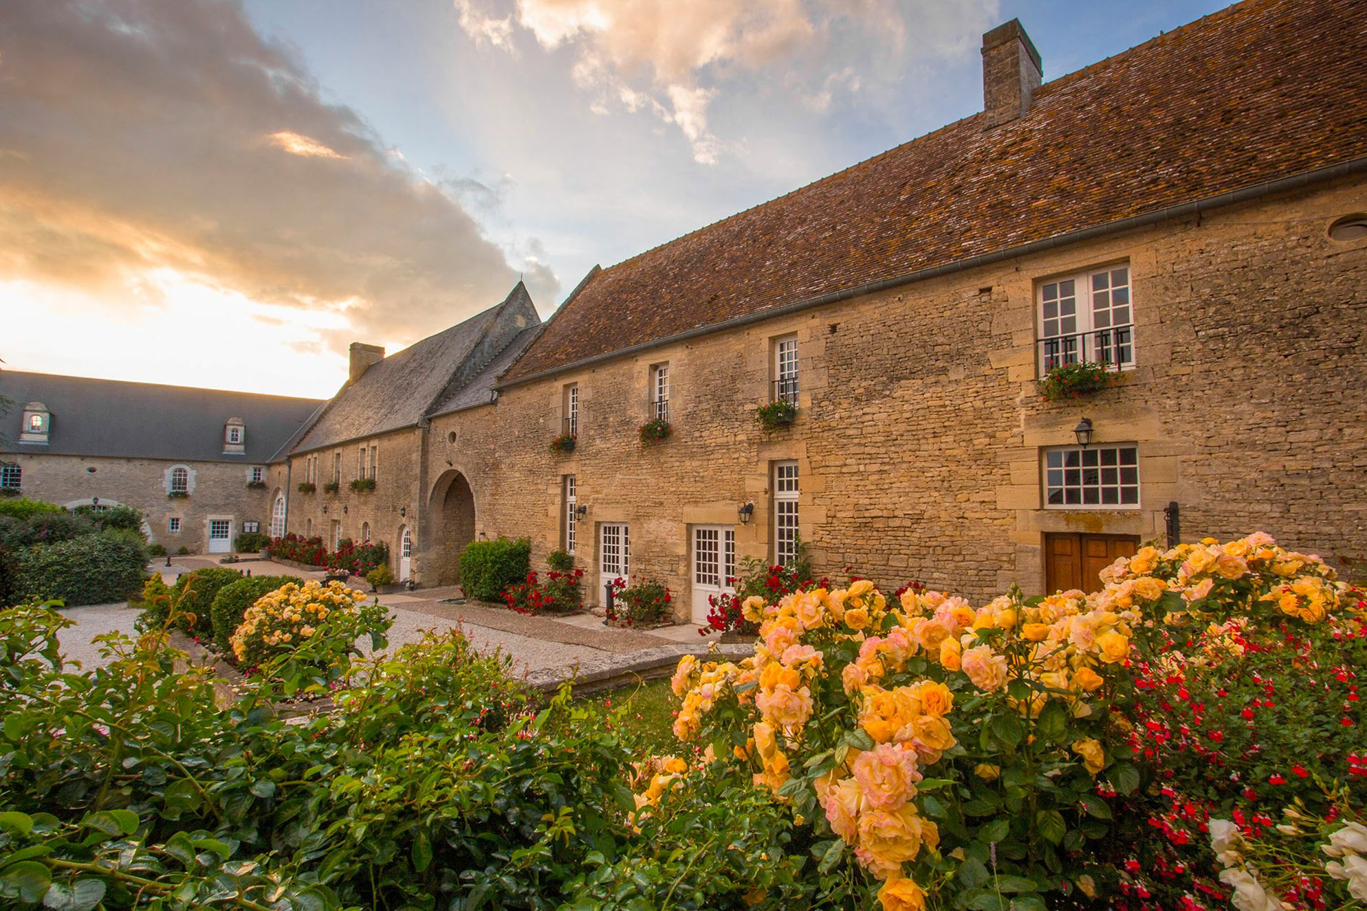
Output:
M0 0L0 366L325 397L1222 5Z

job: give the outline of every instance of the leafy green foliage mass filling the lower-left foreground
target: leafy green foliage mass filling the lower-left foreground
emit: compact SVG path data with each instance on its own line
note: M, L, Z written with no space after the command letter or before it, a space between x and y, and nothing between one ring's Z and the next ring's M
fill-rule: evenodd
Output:
M324 688L273 682L284 657L224 712L160 634L104 636L72 686L63 626L0 615L4 901L555 908L630 837L621 739L567 691L533 710L459 634L358 661L338 712L291 725L272 703Z

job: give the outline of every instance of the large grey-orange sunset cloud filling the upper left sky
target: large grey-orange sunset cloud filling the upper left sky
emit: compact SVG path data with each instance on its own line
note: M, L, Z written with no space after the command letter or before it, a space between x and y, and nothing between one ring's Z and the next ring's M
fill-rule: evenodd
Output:
M0 280L116 309L172 270L398 346L525 268L236 3L7 0L0 16Z

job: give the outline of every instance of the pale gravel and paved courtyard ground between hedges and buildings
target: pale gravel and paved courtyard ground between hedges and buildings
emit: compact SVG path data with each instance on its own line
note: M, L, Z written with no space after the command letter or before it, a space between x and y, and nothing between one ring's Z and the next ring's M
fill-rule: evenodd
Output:
M171 557L170 567L161 560L154 568L167 582L174 582L180 572L209 565L220 564L209 557ZM252 575L323 578L323 572L301 572L269 561L226 565L243 574L250 570ZM454 586L380 595L380 604L390 608L394 616L390 650L416 642L422 630L461 628L481 651L500 650L511 656L519 675L548 680L595 676L610 668L648 664L656 657L681 653L681 649L703 647L716 638L700 635L699 627L690 624L652 631L618 630L604 627L600 617L589 613L532 617L480 602L443 604L444 600L459 597L461 591ZM133 623L138 615L127 604L68 608L64 613L77 626L62 635L63 653L81 661L86 669L104 664L98 646L90 639L113 630L133 634ZM368 646L368 641L362 643L364 650L369 650Z

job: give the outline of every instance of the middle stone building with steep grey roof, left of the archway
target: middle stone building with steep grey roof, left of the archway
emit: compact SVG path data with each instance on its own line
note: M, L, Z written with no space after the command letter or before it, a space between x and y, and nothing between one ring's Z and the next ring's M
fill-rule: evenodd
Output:
M431 415L492 402L496 373L540 324L519 281L502 303L392 356L353 344L346 385L271 466L272 534L288 527L329 549L344 538L383 541L398 579L454 582L476 507L450 462L427 459L446 448L431 438ZM483 433L498 438L492 426ZM432 511L443 520L432 523Z

